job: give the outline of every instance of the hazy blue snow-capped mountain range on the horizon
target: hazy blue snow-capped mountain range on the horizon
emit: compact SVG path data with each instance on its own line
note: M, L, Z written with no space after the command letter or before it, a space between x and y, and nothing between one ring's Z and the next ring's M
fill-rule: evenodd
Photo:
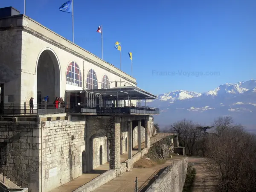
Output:
M232 116L248 130L256 130L256 80L226 83L206 93L175 90L150 100L150 106L160 109L154 121L170 125L184 118L210 125L219 116Z

